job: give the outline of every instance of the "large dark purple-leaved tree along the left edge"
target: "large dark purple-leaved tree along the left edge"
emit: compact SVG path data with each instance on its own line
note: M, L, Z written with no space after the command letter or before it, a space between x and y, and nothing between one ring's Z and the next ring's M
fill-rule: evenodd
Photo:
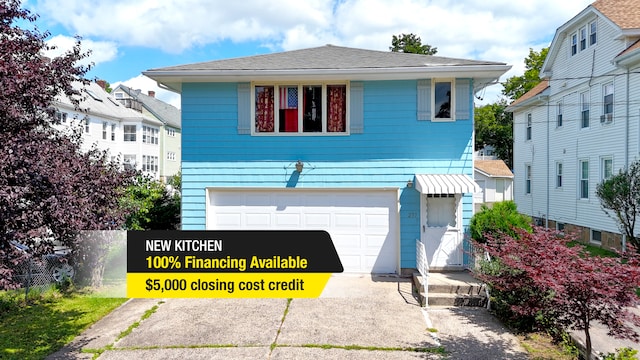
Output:
M35 19L20 1L0 0L0 289L17 285L13 267L24 256L11 240L34 256L61 243L81 259L94 247L80 231L117 229L124 220L118 199L128 175L52 127L56 96L80 103L72 85L86 81L88 68L76 63L88 54L78 40L66 54L44 57L49 34L20 27Z

